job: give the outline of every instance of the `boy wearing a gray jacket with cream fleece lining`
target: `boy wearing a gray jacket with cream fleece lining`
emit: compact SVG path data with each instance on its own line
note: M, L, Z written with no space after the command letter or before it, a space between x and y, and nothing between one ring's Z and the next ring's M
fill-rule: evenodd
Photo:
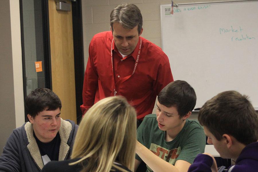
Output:
M30 122L13 130L0 157L0 171L39 172L52 160L69 159L78 129L71 120L62 120L59 97L39 88L25 99Z

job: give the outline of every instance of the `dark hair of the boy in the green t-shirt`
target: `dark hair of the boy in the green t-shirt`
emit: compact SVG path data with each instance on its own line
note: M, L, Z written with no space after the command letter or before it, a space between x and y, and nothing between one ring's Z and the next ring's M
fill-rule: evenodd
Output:
M186 81L173 81L164 87L159 95L158 101L166 107L175 106L179 118L183 118L189 111L192 111L196 104L196 94Z

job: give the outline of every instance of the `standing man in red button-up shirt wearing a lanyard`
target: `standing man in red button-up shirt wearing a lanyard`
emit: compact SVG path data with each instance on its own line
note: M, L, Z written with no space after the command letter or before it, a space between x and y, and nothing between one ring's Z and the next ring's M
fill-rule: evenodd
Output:
M83 83L82 113L97 101L122 95L137 119L151 114L159 92L173 81L167 55L140 37L142 15L134 4L118 5L110 14L111 31L96 34L89 45Z

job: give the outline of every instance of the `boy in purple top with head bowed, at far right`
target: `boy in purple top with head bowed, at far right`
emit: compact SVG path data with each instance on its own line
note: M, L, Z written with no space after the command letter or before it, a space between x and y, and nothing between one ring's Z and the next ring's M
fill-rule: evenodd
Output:
M204 126L207 142L222 158L235 165L228 172L255 172L258 169L258 118L247 96L225 91L208 100L198 120ZM208 153L196 157L189 172L218 171L214 157Z

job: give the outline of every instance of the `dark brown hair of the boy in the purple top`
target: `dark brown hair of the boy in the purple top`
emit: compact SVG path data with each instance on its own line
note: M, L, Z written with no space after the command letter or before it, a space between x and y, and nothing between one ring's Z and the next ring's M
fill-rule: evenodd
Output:
M248 145L258 139L258 118L246 95L224 91L212 97L200 109L198 120L216 137L229 134Z

